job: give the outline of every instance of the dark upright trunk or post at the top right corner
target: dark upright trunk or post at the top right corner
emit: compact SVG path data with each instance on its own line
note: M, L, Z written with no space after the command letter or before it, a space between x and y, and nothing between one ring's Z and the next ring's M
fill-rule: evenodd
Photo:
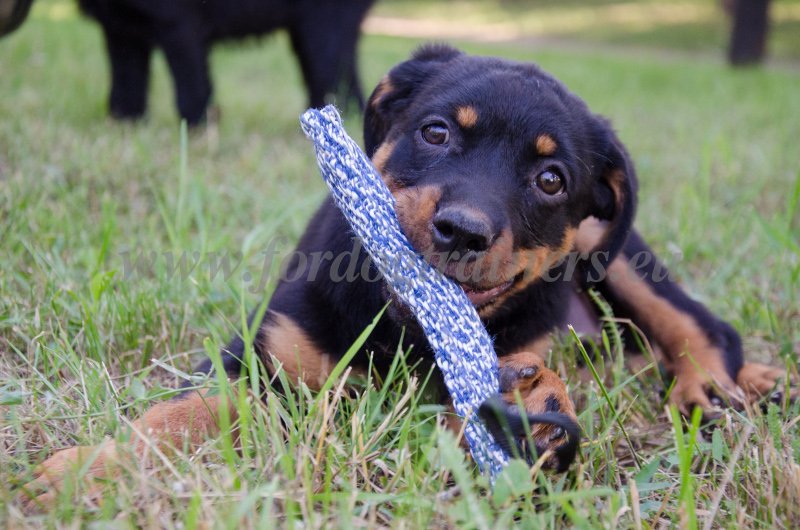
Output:
M731 0L733 29L728 60L733 65L760 63L764 59L769 25L769 0Z

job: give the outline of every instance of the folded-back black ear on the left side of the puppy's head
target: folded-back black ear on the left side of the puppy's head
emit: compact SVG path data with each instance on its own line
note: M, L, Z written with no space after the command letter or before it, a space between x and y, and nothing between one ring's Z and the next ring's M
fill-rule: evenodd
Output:
M462 53L444 44L419 48L411 59L398 64L384 77L367 102L364 113L364 148L372 157L385 140L393 120L414 99L425 82L437 73L442 63Z

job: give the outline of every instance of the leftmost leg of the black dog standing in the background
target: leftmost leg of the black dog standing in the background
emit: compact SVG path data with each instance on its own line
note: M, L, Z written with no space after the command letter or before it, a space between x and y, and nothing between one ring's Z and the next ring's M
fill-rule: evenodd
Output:
M111 66L109 111L117 119L141 118L147 110L153 47L143 40L103 29Z

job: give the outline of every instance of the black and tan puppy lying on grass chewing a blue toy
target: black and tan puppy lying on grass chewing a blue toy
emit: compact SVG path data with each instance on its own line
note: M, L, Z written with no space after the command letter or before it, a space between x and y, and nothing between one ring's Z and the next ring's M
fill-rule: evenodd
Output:
M536 451L553 450L553 467L574 457L575 409L544 359L554 330L591 317L580 294L587 285L658 347L676 378L670 399L684 413L697 406L711 416L715 397L755 400L784 377L744 363L736 331L665 275L631 229L636 176L622 143L538 67L425 47L375 89L364 135L406 235L462 285L495 337L505 402L519 392L529 414L569 420L532 427ZM381 281L371 281L363 253L355 253L351 270L367 273L347 277L348 264L336 257L353 248L347 222L326 200L298 243L299 254L318 259L292 263L259 329L255 350L273 373L280 367L290 380L319 388L390 298ZM385 368L404 329L412 353L429 358L413 319L394 303L354 369L368 369L368 352L373 366ZM231 377L241 374L243 349L237 339L224 352ZM215 432L217 399L187 393L156 405L137 426L185 446L187 436L198 441ZM495 411L520 425L513 407ZM502 423L489 419L495 428ZM45 461L38 484L57 485L81 452ZM109 442L93 454L92 472L101 473L115 447Z

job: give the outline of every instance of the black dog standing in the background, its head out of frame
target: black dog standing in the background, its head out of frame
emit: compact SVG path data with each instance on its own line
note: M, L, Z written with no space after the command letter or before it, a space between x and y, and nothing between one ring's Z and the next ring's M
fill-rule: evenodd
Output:
M211 100L212 43L286 28L312 107L338 93L363 107L356 75L361 22L375 0L78 0L103 26L111 64L109 107L116 118L145 113L150 56L161 48L178 112L201 122ZM264 93L267 93L266 87Z

